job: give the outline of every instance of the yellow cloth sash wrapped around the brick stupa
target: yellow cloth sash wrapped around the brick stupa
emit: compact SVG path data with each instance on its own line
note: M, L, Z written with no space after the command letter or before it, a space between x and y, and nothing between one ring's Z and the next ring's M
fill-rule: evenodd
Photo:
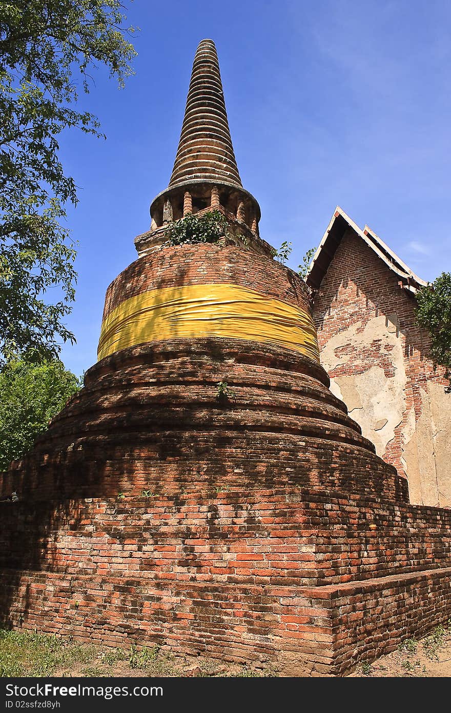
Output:
M269 342L319 361L309 312L236 284L186 284L141 292L115 307L100 331L98 359L145 342L229 337Z

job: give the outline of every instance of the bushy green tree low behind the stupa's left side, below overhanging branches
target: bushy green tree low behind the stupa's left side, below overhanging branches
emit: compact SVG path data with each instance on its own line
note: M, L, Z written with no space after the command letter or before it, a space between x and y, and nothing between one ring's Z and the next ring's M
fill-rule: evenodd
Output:
M31 364L9 361L0 372L0 471L33 446L66 401L81 389L81 379L59 359Z

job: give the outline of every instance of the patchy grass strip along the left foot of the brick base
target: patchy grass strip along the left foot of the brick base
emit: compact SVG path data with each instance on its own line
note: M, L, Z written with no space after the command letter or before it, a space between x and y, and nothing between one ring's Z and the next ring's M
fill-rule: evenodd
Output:
M276 670L254 670L245 665L224 665L212 659L186 660L158 646L113 649L80 644L71 637L0 629L0 677L83 676L276 676Z

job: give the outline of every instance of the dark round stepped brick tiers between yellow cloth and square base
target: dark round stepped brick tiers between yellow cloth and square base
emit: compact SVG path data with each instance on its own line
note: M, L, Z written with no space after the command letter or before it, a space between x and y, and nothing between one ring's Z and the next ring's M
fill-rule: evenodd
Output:
M234 398L219 403L222 379ZM327 382L311 359L239 339L123 350L87 372L3 491L45 500L295 482L406 501L405 479Z

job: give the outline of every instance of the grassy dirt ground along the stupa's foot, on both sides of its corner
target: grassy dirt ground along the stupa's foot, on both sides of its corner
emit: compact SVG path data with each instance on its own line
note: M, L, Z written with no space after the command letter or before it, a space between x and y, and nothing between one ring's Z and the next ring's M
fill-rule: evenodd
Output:
M362 661L348 677L451 675L451 622L421 640L408 639L374 662ZM83 677L280 677L276 667L229 664L204 657L176 657L159 647L128 650L81 644L71 637L0 630L0 676Z

